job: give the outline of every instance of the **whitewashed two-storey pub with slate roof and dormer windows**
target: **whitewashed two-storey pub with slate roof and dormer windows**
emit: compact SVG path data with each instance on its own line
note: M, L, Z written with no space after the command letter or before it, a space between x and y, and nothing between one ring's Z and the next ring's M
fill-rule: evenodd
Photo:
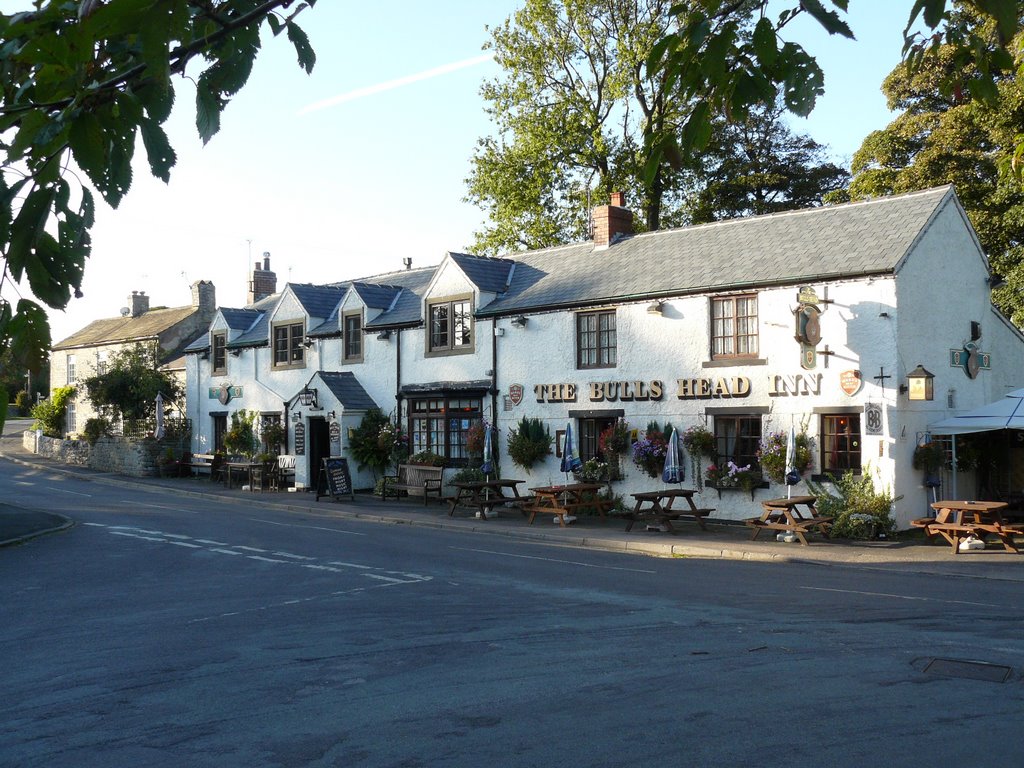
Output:
M503 451L524 416L553 436L571 425L584 459L615 419L641 436L650 422L706 425L719 461L739 465L794 425L813 438L806 476L870 473L903 497L906 527L929 501L911 467L928 425L1024 387L1024 337L991 304L952 187L642 234L616 195L594 232L280 292L267 257L252 303L221 308L187 350L193 450L220 447L230 412L254 410L285 423L308 486L378 408L453 473L485 419L502 476L529 486L562 475L554 452L527 472ZM349 463L354 486L372 487ZM616 495L662 486L628 457L622 466ZM970 498L971 478L958 488ZM701 493L713 517L739 519L785 488Z

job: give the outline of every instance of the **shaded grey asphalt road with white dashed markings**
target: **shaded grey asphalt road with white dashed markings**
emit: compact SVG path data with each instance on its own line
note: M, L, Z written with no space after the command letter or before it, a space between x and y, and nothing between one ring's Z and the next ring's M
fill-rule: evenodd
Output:
M1019 584L654 559L0 461L0 765L1015 765ZM1009 668L998 672L935 658Z

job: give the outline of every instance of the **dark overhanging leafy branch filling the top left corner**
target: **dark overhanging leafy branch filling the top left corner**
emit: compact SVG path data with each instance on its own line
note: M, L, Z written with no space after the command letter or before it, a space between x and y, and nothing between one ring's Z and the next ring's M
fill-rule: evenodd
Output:
M60 309L80 295L92 189L118 206L136 136L153 174L169 179L176 158L162 126L172 78L187 70L196 82L196 126L209 141L249 78L261 28L285 32L312 69L295 16L315 1L35 0L31 11L0 14L0 289L27 279L38 299L0 299L0 349L19 368L37 370L49 350L40 302ZM5 415L2 397L0 425Z

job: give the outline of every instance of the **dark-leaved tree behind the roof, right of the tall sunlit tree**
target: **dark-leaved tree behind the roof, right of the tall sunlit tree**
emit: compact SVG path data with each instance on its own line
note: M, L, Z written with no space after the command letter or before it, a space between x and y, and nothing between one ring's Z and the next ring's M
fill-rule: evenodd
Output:
M755 106L742 122L716 121L700 182L686 204L693 223L819 206L849 183L825 147L790 130L783 110Z

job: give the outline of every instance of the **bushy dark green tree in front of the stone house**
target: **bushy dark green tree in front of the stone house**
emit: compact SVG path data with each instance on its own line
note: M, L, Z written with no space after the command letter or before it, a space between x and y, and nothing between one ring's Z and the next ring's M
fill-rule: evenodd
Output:
M157 345L135 344L111 355L106 372L81 382L96 411L110 421L144 419L157 393L178 400L184 392L173 375L160 370Z

